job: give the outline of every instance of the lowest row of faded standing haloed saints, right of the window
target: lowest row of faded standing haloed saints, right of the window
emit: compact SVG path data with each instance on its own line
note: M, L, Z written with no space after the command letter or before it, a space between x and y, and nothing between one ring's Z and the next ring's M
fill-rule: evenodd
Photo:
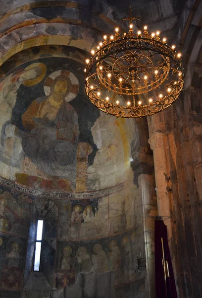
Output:
M137 271L134 230L107 238L57 243L57 287L75 283L78 273L113 272L115 285L132 282ZM136 244L136 243L135 243Z

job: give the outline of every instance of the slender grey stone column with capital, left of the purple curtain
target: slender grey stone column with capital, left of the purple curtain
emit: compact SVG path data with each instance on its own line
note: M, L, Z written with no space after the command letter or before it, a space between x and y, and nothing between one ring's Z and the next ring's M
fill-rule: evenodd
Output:
M143 149L141 150L144 151ZM148 151L151 153L151 150ZM134 170L134 182L138 184L139 220L143 221L142 235L140 241L143 245L142 257L146 258L146 296L147 298L155 297L154 281L154 218L157 215L156 196L155 196L155 178L153 173L153 156L152 154L138 153L134 156L132 168ZM140 245L140 244L139 244ZM139 255L140 257L140 255ZM139 273L143 278L143 272Z

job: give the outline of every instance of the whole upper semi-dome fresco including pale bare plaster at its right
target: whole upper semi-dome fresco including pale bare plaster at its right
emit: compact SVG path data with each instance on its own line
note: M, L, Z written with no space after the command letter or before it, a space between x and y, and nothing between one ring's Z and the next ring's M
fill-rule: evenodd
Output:
M90 103L80 62L41 56L0 81L2 176L67 192L122 182L130 166L127 120L109 119Z

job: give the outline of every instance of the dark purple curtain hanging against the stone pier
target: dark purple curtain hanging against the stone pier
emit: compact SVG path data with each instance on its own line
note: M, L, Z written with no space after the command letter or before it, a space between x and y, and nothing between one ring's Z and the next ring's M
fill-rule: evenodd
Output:
M162 220L155 220L154 232L156 298L177 298L175 278L168 247L167 227ZM162 264L163 253L161 238L163 238L164 259L168 262L169 270L169 277L166 278L166 281L164 278L164 269Z

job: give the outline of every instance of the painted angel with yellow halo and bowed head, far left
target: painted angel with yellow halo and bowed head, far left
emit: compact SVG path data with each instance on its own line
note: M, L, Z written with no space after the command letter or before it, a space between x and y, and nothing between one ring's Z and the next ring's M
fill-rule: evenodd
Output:
M9 74L0 82L0 127L2 127L0 159L6 164L17 165L21 147L21 138L17 136L17 128L11 123L17 90L21 84L33 86L40 83L45 74L46 66L43 63L33 63L25 69L18 69L14 74Z

